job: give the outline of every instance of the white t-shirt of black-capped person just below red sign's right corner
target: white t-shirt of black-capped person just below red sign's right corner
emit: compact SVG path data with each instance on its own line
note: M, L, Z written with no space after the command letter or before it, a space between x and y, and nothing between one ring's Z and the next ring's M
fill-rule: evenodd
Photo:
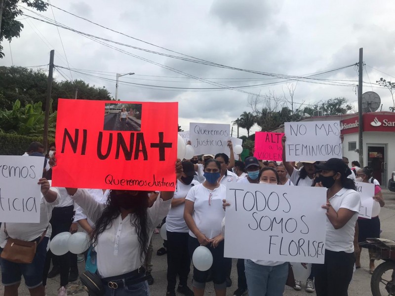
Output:
M176 191L174 191L173 199L185 198L189 190L193 186L197 186L200 183L197 181L192 181L190 185L185 185L180 180L177 180ZM166 217L166 230L170 232L189 232L187 223L184 220L184 208L185 204L178 205L176 207L171 207L169 213Z

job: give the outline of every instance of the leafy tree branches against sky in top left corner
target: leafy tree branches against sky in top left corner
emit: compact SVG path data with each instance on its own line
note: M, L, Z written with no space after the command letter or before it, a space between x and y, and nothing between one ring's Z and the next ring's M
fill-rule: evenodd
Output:
M1 2L3 2L3 7L0 7L0 58L3 58L4 53L1 45L3 39L5 38L11 42L13 37L20 36L23 29L23 24L16 20L16 18L23 13L18 3L25 3L28 7L38 11L45 11L48 7L48 3L42 0L4 0Z

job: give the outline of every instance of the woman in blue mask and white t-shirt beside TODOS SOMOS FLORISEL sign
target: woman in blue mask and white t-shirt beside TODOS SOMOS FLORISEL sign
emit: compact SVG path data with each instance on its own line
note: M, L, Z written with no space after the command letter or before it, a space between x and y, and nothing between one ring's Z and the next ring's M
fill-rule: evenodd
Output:
M225 217L222 200L226 197L226 186L218 182L221 164L209 159L204 162L205 181L193 186L185 198L184 219L189 231L189 253L206 246L212 256L211 276L216 296L226 295L226 266L230 258L224 258L224 238L221 234L221 222ZM194 267L194 294L203 296L205 283L210 271L199 271Z

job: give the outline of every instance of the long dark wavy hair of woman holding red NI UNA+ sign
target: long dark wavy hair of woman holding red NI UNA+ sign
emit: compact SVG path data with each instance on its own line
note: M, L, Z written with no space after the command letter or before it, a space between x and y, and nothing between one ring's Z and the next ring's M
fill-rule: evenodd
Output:
M147 198L144 198L144 195ZM116 195L114 190L110 190L107 197L106 207L97 220L91 233L91 244L92 246L97 245L97 239L106 229L110 228L113 220L120 215L119 206L116 205L114 196ZM140 244L140 259L142 260L147 256L148 243L150 233L148 233L148 215L147 209L149 207L149 199L147 191L139 191L139 194L133 198L135 202L134 212L130 215L130 224L136 227L137 239Z

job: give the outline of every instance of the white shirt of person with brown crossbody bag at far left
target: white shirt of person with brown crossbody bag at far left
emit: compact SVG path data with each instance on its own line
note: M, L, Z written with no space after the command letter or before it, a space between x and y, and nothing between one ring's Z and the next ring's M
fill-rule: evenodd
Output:
M51 181L49 181L51 183ZM9 237L20 239L24 241L33 241L40 237L48 226L45 233L46 237L51 237L52 226L49 223L52 217L52 209L55 205L59 203L59 191L56 187L50 187L52 191L57 193L57 198L54 202L49 203L45 200L44 196L41 194L40 202L40 222L39 223L8 223L6 222L7 232ZM7 242L6 235L4 233L4 223L1 223L0 228L0 247L4 248Z

